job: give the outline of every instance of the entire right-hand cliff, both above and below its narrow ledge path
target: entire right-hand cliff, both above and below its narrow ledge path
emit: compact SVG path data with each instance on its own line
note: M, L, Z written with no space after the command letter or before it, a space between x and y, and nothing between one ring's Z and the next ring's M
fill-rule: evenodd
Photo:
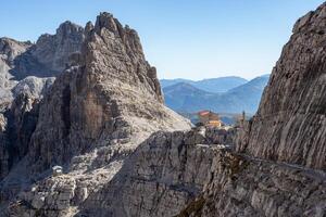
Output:
M297 22L258 114L179 217L326 215L325 15L326 3Z

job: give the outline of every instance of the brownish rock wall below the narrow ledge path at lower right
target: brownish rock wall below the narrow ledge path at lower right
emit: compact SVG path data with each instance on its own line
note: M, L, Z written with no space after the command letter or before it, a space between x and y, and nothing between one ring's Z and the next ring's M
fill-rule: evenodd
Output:
M228 151L214 156L209 182L178 217L326 214L326 174Z

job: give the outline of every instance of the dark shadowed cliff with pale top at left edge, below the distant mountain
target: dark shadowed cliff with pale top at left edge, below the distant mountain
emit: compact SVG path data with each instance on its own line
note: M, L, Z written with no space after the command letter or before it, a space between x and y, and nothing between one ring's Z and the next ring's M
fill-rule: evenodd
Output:
M27 77L13 89L14 100L0 112L0 178L28 151L28 143L38 118L38 104L54 78Z

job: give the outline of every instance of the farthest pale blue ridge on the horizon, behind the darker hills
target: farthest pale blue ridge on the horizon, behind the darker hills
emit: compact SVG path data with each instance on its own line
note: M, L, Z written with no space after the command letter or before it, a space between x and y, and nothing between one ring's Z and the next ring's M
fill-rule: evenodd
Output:
M179 82L189 84L195 88L213 92L221 93L226 92L231 88L238 87L240 85L244 85L248 82L247 79L237 77L237 76L228 76L228 77L220 77L220 78L210 78L203 80L189 80L189 79L162 79L160 80L162 88L166 88L168 86L177 85Z

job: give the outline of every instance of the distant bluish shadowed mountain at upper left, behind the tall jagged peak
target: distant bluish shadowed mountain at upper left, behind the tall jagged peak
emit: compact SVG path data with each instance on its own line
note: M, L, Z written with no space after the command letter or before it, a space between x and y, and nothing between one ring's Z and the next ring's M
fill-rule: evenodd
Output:
M68 56L79 52L84 28L65 22L55 35L42 35L36 43L0 38L0 108L12 100L12 88L28 77L53 77L68 64Z

